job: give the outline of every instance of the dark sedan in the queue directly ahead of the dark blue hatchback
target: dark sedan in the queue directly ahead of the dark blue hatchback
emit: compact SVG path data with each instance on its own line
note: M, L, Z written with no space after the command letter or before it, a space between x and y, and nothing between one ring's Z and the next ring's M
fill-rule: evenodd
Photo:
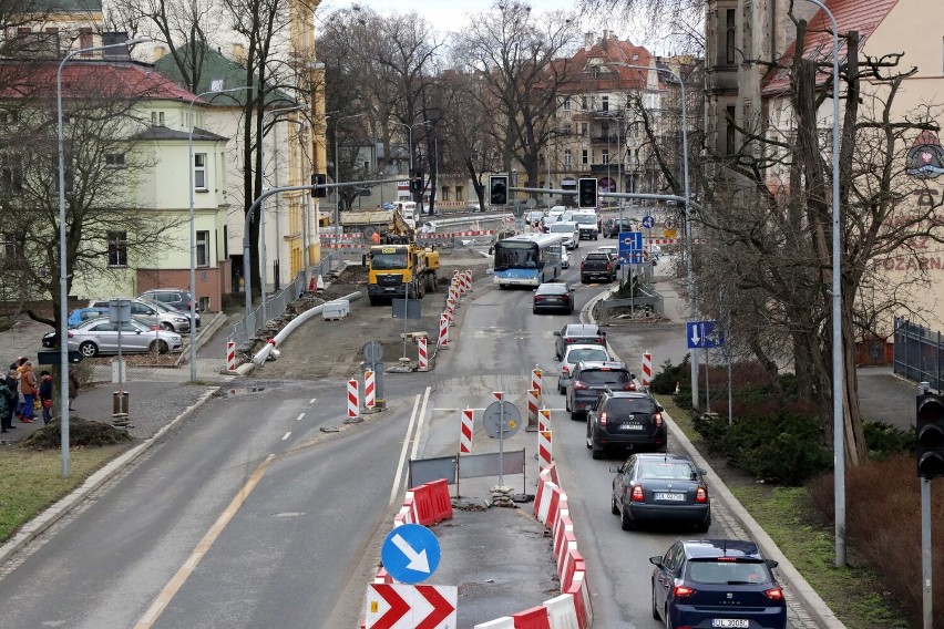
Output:
M707 533L711 499L705 471L685 454L634 454L615 472L609 511L620 517L623 530L640 522L681 522Z

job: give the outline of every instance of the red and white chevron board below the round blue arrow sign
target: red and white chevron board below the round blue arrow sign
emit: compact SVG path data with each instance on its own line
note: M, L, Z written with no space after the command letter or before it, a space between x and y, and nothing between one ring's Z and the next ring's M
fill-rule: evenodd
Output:
M455 586L367 586L366 629L455 629Z

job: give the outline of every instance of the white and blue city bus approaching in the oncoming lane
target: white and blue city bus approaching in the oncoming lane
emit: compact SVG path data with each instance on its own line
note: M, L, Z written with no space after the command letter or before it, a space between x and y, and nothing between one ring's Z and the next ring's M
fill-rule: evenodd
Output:
M537 286L561 275L560 234L520 234L495 243L495 283Z

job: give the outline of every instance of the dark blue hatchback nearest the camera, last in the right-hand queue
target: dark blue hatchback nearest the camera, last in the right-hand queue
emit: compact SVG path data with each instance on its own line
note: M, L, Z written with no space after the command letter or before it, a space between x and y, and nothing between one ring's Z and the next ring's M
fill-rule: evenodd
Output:
M784 629L777 561L753 542L688 539L649 557L653 618L677 629Z

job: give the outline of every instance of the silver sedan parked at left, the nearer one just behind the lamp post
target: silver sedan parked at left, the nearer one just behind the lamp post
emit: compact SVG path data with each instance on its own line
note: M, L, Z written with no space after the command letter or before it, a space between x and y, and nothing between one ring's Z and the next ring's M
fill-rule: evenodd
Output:
M138 319L119 324L102 317L69 330L69 349L78 350L86 358L119 353L119 341L123 353L178 352L184 346L183 339L176 332L148 326Z

